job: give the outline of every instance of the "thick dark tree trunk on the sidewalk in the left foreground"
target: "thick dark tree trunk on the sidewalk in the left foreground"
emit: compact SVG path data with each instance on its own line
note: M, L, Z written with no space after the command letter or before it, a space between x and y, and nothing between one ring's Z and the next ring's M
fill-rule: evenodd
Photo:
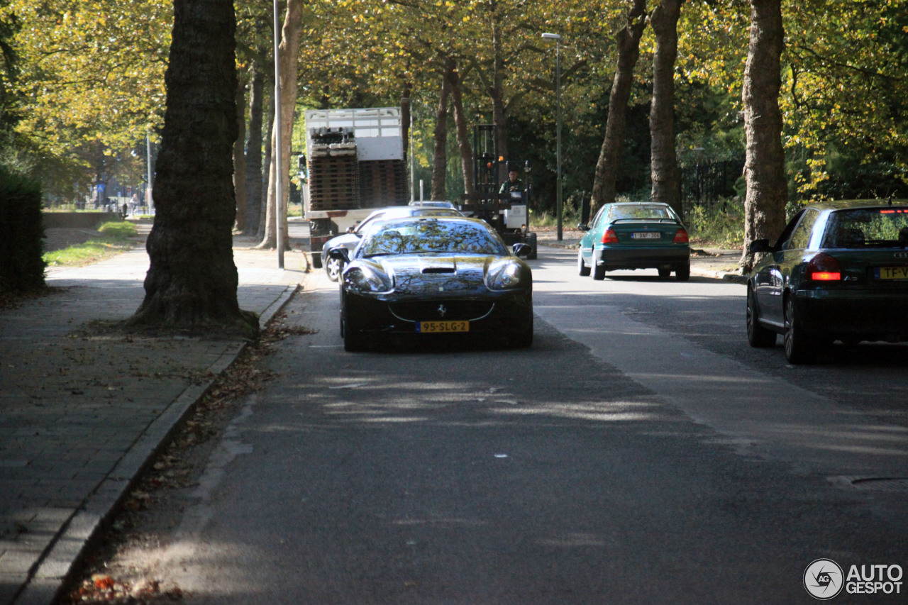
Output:
M154 183L151 268L133 325L251 333L233 263L237 134L232 0L174 0L167 105Z

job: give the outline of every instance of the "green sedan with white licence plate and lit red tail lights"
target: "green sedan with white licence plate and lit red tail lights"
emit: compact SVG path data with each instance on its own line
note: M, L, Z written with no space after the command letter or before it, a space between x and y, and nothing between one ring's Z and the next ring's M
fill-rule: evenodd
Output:
M607 203L584 231L577 250L577 273L602 280L617 269L657 269L665 279L675 272L690 279L690 244L681 219L667 203Z

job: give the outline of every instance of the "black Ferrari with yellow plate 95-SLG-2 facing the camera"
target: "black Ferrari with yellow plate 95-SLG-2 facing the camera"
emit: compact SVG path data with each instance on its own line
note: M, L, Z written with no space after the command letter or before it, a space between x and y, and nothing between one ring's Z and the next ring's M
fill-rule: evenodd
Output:
M478 219L427 216L377 223L344 263L341 336L361 351L391 334L430 339L484 335L533 342L533 275L524 243L514 252Z

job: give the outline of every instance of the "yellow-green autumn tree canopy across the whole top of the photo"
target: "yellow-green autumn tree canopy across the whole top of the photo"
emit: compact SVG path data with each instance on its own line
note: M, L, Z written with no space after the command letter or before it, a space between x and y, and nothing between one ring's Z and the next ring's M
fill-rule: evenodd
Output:
M749 51L764 47L748 44L752 25L763 23L754 20L752 9L760 6L757 16L764 15L764 2L309 0L299 15L284 21L299 26L305 42L291 52L297 66L285 68L287 84L299 84L299 94L284 104L296 114L279 123L299 125L304 108L397 105L407 97L416 171L428 176L434 169L439 192L451 172L462 174L469 192L470 127L496 124L500 151L538 161L534 184L549 194L536 203L550 210L554 49L539 38L548 31L562 35L568 200L588 198L593 191L597 203L618 194L673 203L673 153L676 164L687 166L694 157L709 162L747 153L749 241L775 229L785 195L800 202L908 191L908 0L778 0L778 26L786 41L778 60L753 55L747 61ZM237 65L245 71L255 62L259 74L268 74L270 50L256 49L267 49L271 40L270 25L261 26L270 19L271 6L235 0L233 8L242 23L255 24L241 30ZM640 17L628 20L631 12ZM0 82L2 101L5 110L15 109L23 118L15 124L15 139L27 142L40 161L70 166L72 174L82 171L76 180L92 174L92 158L128 158L129 148L146 134L159 137L172 23L173 0L0 2L5 66L15 56L15 73L7 69ZM622 50L628 34L627 40L637 37L637 43ZM634 53L642 60L628 69ZM267 109L262 112L273 103L271 83L261 77L250 83L252 90L244 91L249 111L237 112L250 124L242 142L247 160L267 154L266 124L273 119ZM444 112L442 94L448 94ZM762 103L758 99L772 96L778 114L766 116L774 121L767 129L761 122L765 114L755 108ZM754 109L750 114L747 104ZM637 125L619 134L628 110ZM260 112L262 120L253 126ZM673 112L676 132L668 124ZM768 130L778 130L778 144L762 138ZM300 133L295 134L299 148ZM622 146L626 152L616 154ZM240 148L238 142L238 154ZM637 162L640 178L610 184L630 170L630 153L636 154L630 160ZM459 163L447 161L455 154ZM597 163L600 158L605 164ZM280 160L283 176L291 167ZM766 162L774 166L769 180L763 177ZM262 183L260 168L255 161L246 164L256 176L247 198L246 217L252 220L245 226L272 229L275 215L264 220L256 213L261 196L253 191ZM264 170L263 180L271 181L268 167ZM770 182L773 193L766 195ZM451 181L447 185L448 196L455 198L459 192L450 190Z

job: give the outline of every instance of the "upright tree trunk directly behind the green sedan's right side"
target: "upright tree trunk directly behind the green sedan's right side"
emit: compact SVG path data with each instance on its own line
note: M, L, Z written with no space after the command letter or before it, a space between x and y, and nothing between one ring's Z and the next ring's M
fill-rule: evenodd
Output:
M653 102L649 110L652 197L681 214L681 179L675 152L675 60L677 23L684 0L662 0L650 17L656 34L653 54Z

